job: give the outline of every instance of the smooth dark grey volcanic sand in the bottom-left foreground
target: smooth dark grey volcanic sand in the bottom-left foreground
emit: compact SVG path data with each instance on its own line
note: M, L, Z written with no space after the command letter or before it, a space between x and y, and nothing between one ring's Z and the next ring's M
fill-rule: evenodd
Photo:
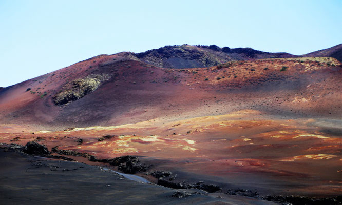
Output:
M176 198L172 197L174 189L127 180L96 166L3 149L0 161L1 204L274 204L223 194Z

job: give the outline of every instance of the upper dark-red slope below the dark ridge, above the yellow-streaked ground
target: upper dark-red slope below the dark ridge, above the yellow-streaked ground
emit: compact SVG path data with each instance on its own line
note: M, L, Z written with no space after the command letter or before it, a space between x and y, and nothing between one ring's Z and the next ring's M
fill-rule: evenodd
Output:
M282 67L288 68L280 71ZM94 75L107 78L79 100L54 105L53 96L77 87L73 80ZM293 117L338 117L340 79L341 67L332 58L234 61L219 67L173 70L122 55L101 55L6 88L0 94L1 123L84 127L241 109Z

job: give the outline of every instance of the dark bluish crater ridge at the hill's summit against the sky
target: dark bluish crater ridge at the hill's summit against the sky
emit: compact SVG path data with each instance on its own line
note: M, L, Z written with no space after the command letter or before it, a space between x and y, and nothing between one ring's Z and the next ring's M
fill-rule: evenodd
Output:
M296 57L289 53L269 53L252 48L220 48L211 46L165 46L134 54L141 61L160 68L200 68L227 63L232 60Z

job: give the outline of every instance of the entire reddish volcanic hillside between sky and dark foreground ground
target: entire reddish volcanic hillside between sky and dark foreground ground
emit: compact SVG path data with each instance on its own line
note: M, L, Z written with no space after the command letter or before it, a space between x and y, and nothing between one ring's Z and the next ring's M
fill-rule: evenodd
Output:
M222 193L336 196L342 67L312 57L333 50L183 45L99 55L0 89L0 142L139 155L148 171L211 182ZM99 141L105 135L115 137Z

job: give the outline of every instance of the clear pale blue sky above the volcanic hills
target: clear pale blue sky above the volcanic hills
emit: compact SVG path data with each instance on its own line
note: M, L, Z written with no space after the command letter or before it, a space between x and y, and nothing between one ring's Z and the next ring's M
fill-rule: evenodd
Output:
M0 0L0 87L165 45L305 54L342 43L342 0Z

